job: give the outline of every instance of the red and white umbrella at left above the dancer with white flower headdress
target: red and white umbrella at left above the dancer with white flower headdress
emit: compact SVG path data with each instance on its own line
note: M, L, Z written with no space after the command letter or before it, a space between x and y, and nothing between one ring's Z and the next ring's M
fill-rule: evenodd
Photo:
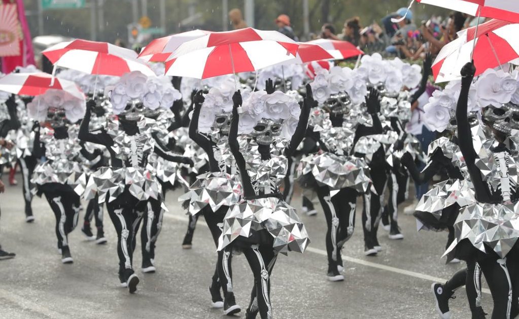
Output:
M121 76L131 71L144 75L155 73L137 53L106 42L76 39L61 42L42 52L54 65L78 70L87 74Z

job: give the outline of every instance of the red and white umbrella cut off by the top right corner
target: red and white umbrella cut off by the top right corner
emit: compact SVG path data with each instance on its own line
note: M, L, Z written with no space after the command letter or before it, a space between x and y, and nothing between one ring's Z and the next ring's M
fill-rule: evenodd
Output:
M474 17L486 17L519 23L519 1L516 0L416 0L421 4L434 5L468 13Z

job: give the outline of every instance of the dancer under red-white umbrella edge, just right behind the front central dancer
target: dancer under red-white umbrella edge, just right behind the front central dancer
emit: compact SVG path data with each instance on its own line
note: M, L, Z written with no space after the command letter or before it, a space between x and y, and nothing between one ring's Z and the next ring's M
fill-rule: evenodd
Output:
M367 111L377 126L378 93L372 90L366 97ZM344 280L341 250L353 235L357 196L365 193L371 180L362 158L352 156L353 137L358 118L365 109L353 106L346 92L332 94L323 110L312 112L311 122L319 132L321 154L301 160L298 172L304 184L317 192L326 218L326 251L328 254L327 279Z

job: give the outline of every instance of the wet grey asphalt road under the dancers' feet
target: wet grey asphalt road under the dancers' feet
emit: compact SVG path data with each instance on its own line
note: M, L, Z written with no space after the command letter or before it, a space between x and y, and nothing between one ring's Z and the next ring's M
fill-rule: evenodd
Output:
M19 177L20 180L21 177ZM56 249L54 215L43 198L35 198L36 221L26 224L21 186L6 187L0 195L0 242L15 259L0 261L0 318L225 318L210 308L208 285L214 271L215 248L200 219L192 250L183 250L187 216L176 202L181 191L167 195L165 216L157 243L154 274L140 272L140 242L134 266L141 283L130 295L118 287L116 234L105 214L108 243L85 241L80 225L69 235L73 265L61 264ZM360 204L360 202L359 202ZM300 209L301 199L292 205ZM360 205L358 205L359 207ZM272 274L272 309L275 318L437 318L431 283L445 280L463 266L445 265L440 259L446 233L421 231L411 215L399 216L403 240L389 240L379 229L383 251L363 255L362 229L356 229L343 255L345 281L326 281L324 234L326 224L319 205L317 216L302 216L311 237L305 254L280 255ZM403 208L401 208L403 209ZM83 213L80 216L80 222ZM360 226L360 211L357 223ZM140 240L139 240L140 241ZM233 259L234 290L244 317L252 287L252 273L243 256ZM465 290L451 300L453 318L469 318ZM491 311L491 297L483 294Z

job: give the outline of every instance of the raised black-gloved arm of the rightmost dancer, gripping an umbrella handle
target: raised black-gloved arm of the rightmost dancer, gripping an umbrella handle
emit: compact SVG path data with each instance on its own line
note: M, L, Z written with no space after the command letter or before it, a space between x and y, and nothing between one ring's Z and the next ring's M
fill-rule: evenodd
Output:
M469 100L469 90L474 79L476 68L473 62L467 63L461 68L461 91L456 106L456 122L458 123L458 146L465 158L467 169L470 174L470 179L474 185L474 192L476 199L482 202L490 201L490 194L488 187L483 181L481 171L475 165L476 151L474 151L474 144L472 142L472 132L470 130L470 123L467 117L467 108Z

